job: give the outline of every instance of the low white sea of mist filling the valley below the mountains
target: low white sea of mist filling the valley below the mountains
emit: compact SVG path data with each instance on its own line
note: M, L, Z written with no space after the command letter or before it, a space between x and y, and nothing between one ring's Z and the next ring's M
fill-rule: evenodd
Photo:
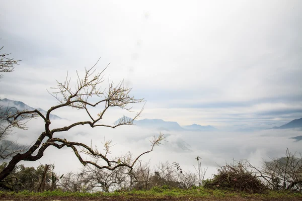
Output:
M53 121L52 128L67 125L67 121ZM38 120L29 123L29 130L19 130L12 139L18 138L19 143L30 144L43 130L43 122ZM257 132L164 132L166 141L156 147L154 152L144 155L142 159L152 165L160 161L178 162L184 170L194 171L195 158L202 158L203 167L209 167L207 176L215 172L218 165L232 162L233 159L248 159L252 164L261 165L263 159L282 157L286 148L291 152L301 152L300 141L294 142L291 137L299 136L297 130L263 130ZM150 129L141 129L136 126L124 126L116 129L94 128L78 126L68 132L56 133L55 137L66 138L69 141L78 141L96 146L103 150L104 139L112 140L112 157L126 154L130 151L134 156L150 148L149 140L159 133ZM44 156L36 162L22 162L29 166L40 163L55 163L56 171L65 173L77 171L81 164L70 148L56 149L49 147Z

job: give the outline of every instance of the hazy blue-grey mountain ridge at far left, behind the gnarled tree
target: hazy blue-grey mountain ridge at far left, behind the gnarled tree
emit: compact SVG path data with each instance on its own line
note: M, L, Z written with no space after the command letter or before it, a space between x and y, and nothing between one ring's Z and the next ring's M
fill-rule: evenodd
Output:
M21 101L10 100L8 98L0 99L0 106L3 106L5 108L7 108L7 107L9 107L9 108L15 107L19 111L22 111L22 110L29 110L29 111L31 111L31 110L38 110L43 115L46 115L46 113L47 113L45 110L42 110L41 108L32 108L32 107L26 105L25 103L23 103ZM52 115L52 114L50 114L49 118L52 119L52 120L62 119L59 116Z

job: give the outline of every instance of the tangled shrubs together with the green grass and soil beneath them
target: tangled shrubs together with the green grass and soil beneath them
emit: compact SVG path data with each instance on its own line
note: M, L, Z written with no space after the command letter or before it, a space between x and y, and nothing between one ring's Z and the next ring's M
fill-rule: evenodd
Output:
M18 180L16 190L0 191L0 200L302 200L301 182L296 188L288 188L284 182L280 185L278 179L267 182L248 168L249 163L222 166L212 179L204 180L200 158L197 162L197 174L185 172L178 163L166 162L156 166L154 173L148 164L139 163L131 174L92 171L92 176L84 168L78 174L61 177L53 172L54 166L40 165L35 169L19 165L13 174ZM93 182L95 176L100 180Z

